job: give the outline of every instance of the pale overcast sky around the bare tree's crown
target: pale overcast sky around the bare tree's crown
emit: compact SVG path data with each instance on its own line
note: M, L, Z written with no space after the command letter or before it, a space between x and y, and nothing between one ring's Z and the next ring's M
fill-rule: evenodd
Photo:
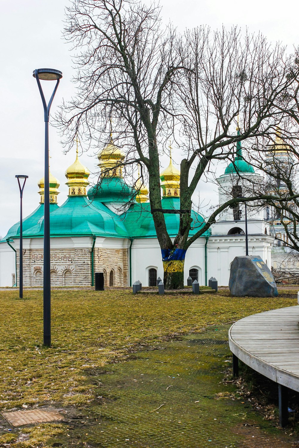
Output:
M62 38L64 8L67 0L4 0L1 3L1 62L0 73L0 235L4 237L11 225L19 220L19 190L16 174L26 174L23 216L39 204L37 182L43 177L44 121L43 107L32 72L36 68L59 69L63 78L52 104L52 114L62 98L74 94L72 60L68 44ZM165 22L169 19L179 29L200 24L212 29L232 25L261 30L269 41L282 41L292 47L299 44L299 4L275 0L209 0L184 2L160 0ZM290 49L290 48L289 48ZM47 84L47 83L46 83ZM50 83L49 84L53 84ZM52 86L51 86L52 88ZM74 162L75 150L64 155L56 129L50 126L51 172L61 183L58 203L67 198L65 169ZM100 148L99 148L100 149ZM175 148L173 149L175 151ZM174 154L175 159L175 154ZM84 153L81 162L95 170L95 157ZM163 164L168 164L167 158ZM217 202L216 188L199 185L200 198Z

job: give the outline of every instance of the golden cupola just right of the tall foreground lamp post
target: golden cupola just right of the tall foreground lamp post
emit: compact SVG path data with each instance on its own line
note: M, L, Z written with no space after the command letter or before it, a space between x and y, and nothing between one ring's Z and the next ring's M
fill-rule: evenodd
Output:
M78 147L76 160L65 171L65 177L67 178L66 185L69 187L69 196L85 196L86 187L89 185L88 177L90 175L89 170L82 165L78 159Z

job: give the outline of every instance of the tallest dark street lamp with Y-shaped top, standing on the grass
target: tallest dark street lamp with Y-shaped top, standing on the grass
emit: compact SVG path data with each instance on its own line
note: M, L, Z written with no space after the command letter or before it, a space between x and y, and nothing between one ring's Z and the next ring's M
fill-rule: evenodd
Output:
M43 102L45 121L45 184L44 184L44 218L43 218L43 344L51 346L51 271L50 271L50 198L49 198L49 115L53 98L62 73L54 69L36 69L33 72L39 86ZM40 80L56 81L56 86L48 106L43 95Z

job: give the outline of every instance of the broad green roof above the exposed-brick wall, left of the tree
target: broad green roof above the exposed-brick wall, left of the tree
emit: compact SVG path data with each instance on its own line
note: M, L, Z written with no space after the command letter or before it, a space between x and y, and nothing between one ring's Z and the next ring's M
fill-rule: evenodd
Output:
M64 236L103 236L127 238L126 228L104 204L95 207L85 196L70 196L50 214L50 234ZM43 217L23 233L24 237L43 237Z

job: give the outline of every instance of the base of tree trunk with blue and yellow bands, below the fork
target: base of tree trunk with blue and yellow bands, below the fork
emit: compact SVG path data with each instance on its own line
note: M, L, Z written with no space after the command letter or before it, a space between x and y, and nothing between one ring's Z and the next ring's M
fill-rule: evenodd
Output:
M184 288L184 263L186 250L162 249L165 289Z

